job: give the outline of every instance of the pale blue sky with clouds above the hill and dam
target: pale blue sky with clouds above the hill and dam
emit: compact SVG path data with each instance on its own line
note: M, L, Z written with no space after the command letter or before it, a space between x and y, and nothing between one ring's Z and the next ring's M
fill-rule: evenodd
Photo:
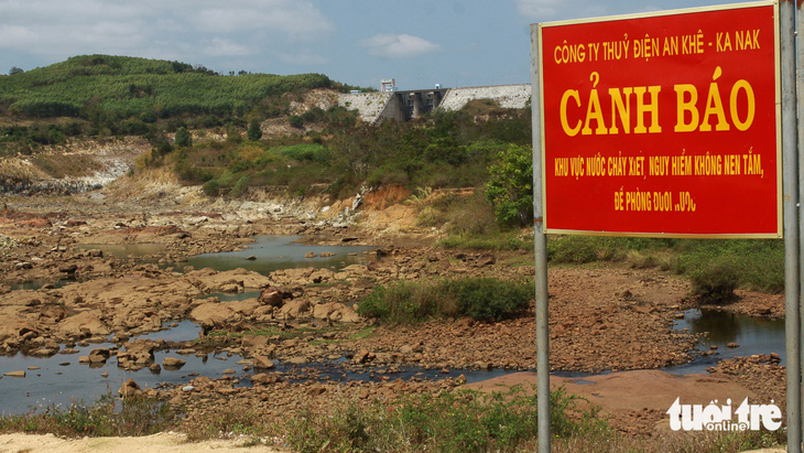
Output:
M402 89L528 83L529 24L717 0L0 0L0 73L79 54Z

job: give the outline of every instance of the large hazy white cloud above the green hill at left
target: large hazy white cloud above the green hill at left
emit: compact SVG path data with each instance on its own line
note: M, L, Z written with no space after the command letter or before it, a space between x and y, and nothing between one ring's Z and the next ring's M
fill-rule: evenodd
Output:
M209 64L264 48L292 54L335 30L311 0L0 0L0 50L64 58L135 55Z

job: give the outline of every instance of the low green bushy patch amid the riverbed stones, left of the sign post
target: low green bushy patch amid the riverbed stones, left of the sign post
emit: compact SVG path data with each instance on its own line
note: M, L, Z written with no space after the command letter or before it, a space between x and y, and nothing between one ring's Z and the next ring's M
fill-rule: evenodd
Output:
M530 282L493 278L400 281L374 289L357 312L388 324L458 316L499 321L526 310L533 294Z

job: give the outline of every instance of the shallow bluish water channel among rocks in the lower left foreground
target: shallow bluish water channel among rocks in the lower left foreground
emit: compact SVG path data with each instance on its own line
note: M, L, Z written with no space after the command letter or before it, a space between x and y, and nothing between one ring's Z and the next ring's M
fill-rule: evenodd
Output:
M192 341L198 337L199 326L191 321L180 322L176 327L171 327L165 331L142 335L139 338L150 339L165 339L172 342ZM94 344L86 347L76 347L77 354L62 355L56 354L53 357L32 357L24 356L22 354L15 354L13 356L6 356L0 358L0 376L9 371L25 370L25 378L12 378L2 377L0 378L0 395L2 395L2 406L0 407L0 413L24 413L30 408L42 408L48 405L68 405L74 401L91 402L100 398L107 392L117 395L120 386L129 378L142 388L154 388L161 382L167 384L187 384L195 379L195 376L191 374L197 374L199 376L207 376L210 378L220 378L224 375L224 370L230 368L235 370L235 374L226 376L232 376L236 379L243 377L246 374L254 374L256 371L243 370L243 365L238 365L237 362L241 360L242 357L239 355L229 356L228 353L214 354L210 353L208 357L202 358L194 355L177 355L174 350L162 350L154 353L156 364L162 364L164 357L177 357L186 360L186 364L177 370L169 370L164 367L161 373L151 373L149 368L142 368L139 370L124 370L117 367L117 358L110 357L106 364L96 364L93 366L78 364L78 357L89 355L89 352L98 347L115 347L111 343ZM361 371L346 371L341 365L346 363L346 358L343 357L338 360L324 362L324 363L311 363L304 365L289 365L274 360L276 367L270 373L292 373L296 370L304 370L304 378L293 378L293 376L283 376L283 379L293 380L306 380L307 371L314 371L318 374L317 379L322 381L380 381L380 376L388 376L390 379L410 379L412 377L419 377L422 379L441 379L443 377L457 377L461 374L466 376L467 381L478 381L484 379L490 379L492 377L502 376L507 371L502 369L496 369L491 371L480 370L468 370L468 369L452 369L448 375L441 373L441 369L423 369L417 367L398 367L400 373L394 374L379 374L374 370L374 376L371 376L371 370L366 369ZM250 363L251 360L249 360ZM62 365L62 364L68 365ZM28 369L30 366L40 367L40 369ZM108 373L108 377L102 377L102 373ZM249 379L242 379L239 386L250 386Z

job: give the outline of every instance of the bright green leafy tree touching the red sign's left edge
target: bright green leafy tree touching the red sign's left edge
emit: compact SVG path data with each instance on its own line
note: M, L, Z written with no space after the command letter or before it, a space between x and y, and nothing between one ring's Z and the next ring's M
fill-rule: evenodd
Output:
M486 196L495 205L495 217L503 224L533 219L533 161L531 148L509 144L489 166Z

